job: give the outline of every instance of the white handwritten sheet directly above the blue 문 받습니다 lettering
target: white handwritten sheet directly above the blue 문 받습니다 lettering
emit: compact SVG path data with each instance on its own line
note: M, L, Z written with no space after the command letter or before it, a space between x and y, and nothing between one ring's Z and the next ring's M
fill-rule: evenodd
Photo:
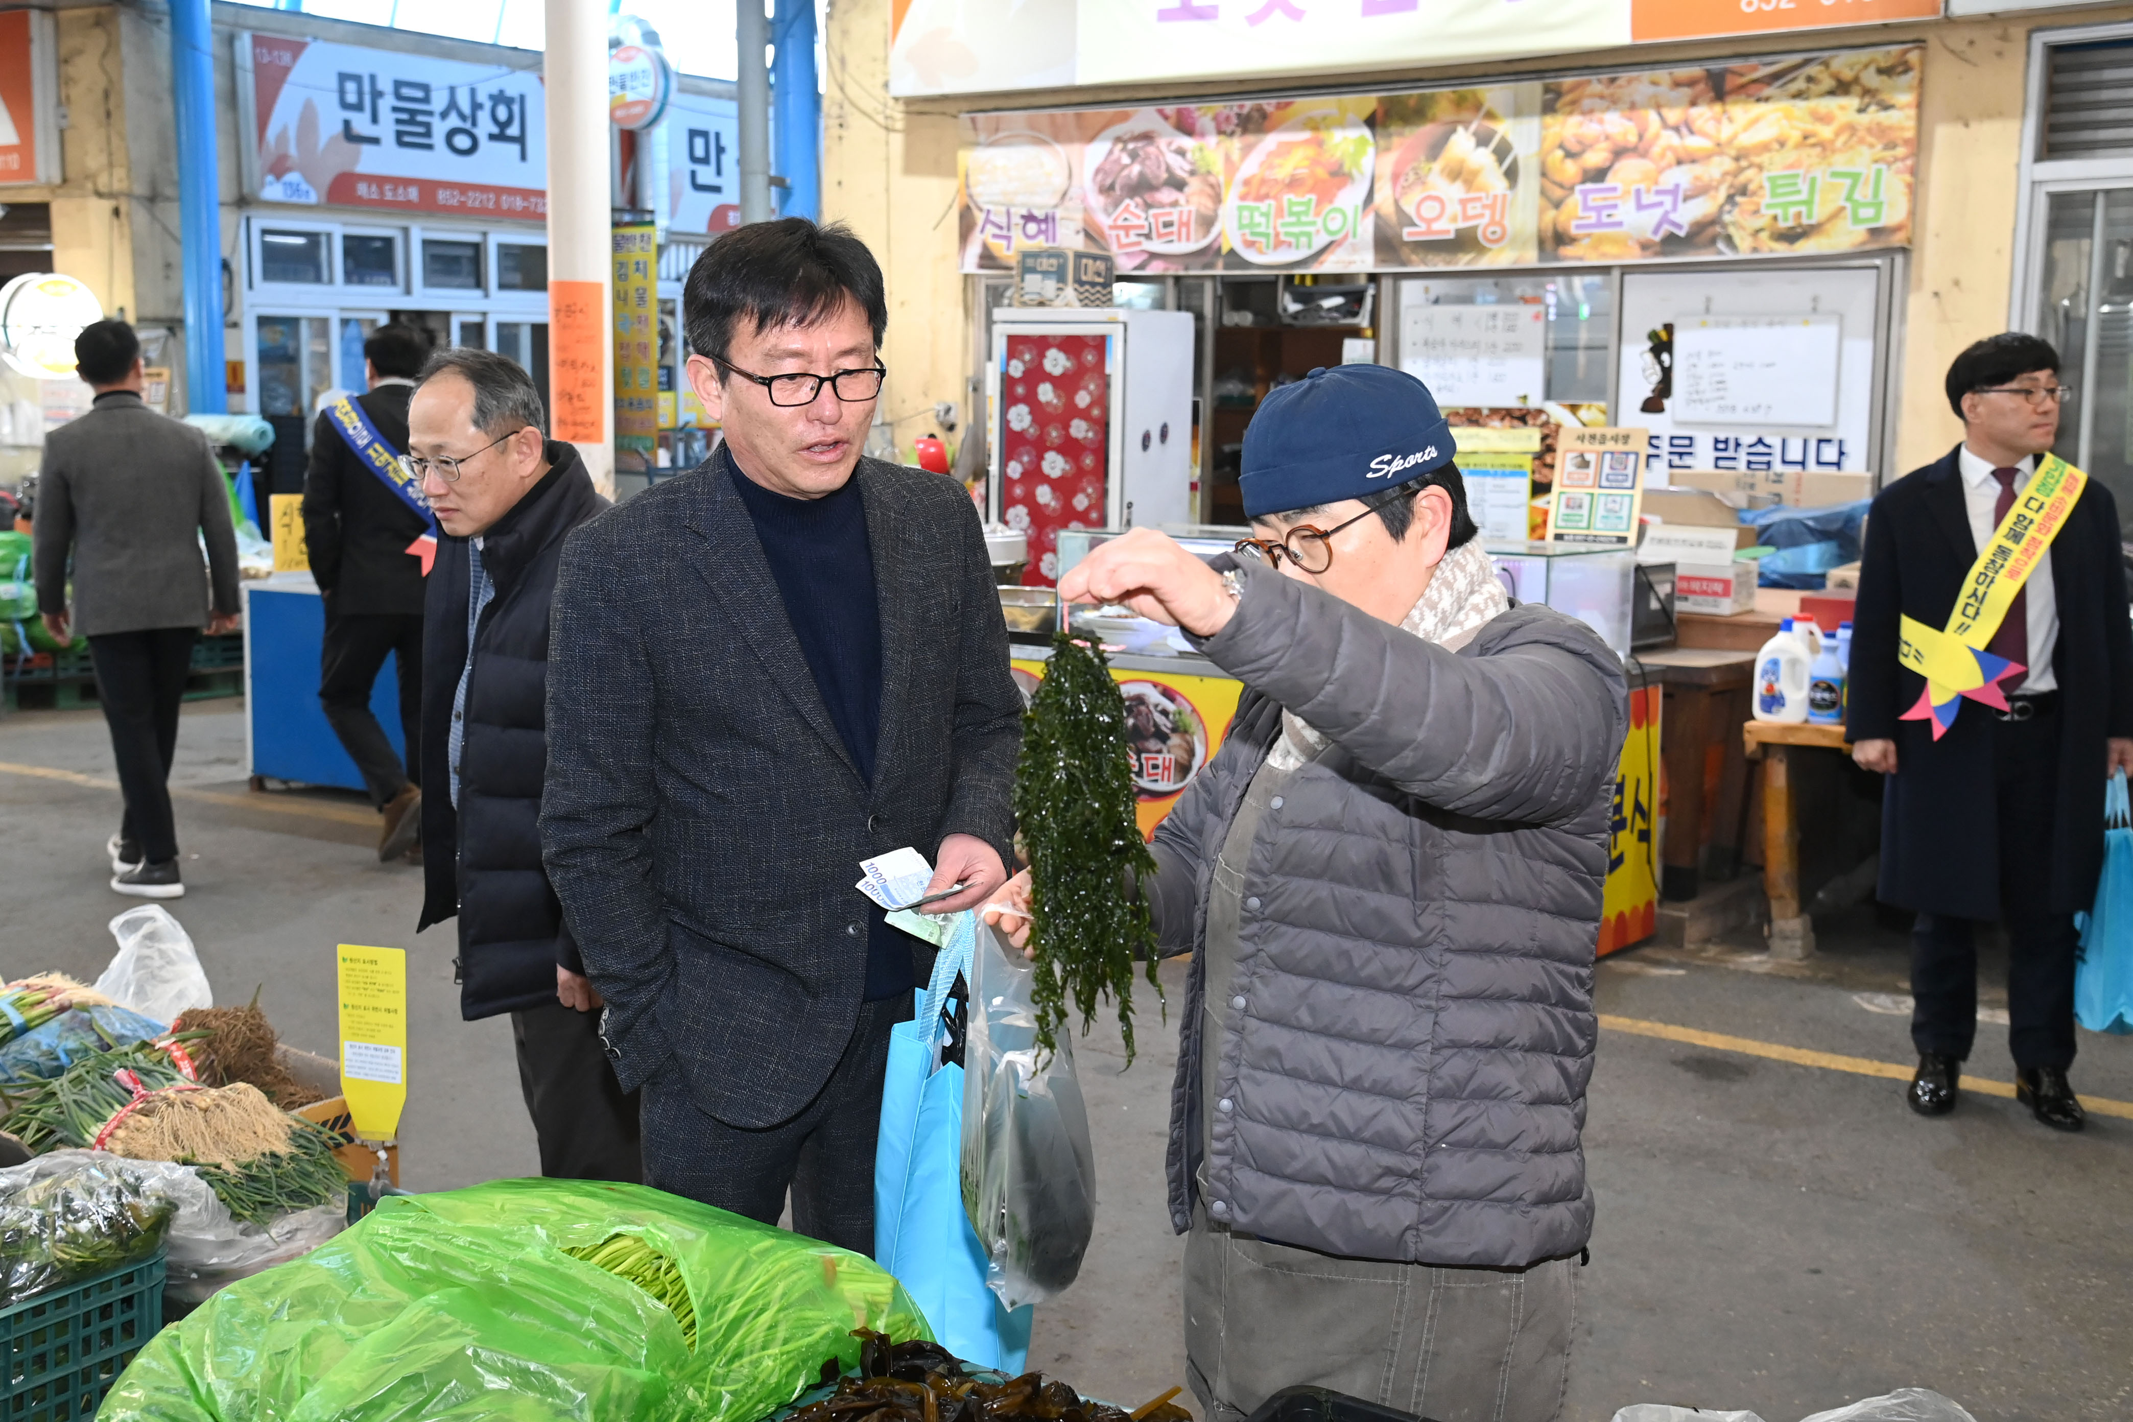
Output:
M1837 316L1698 316L1674 324L1674 418L1837 424Z

